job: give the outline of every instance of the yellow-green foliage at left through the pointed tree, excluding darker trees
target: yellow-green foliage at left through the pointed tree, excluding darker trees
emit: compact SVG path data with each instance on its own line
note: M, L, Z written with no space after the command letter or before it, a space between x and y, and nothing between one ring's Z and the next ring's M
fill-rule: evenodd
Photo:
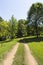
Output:
M11 20L0 22L0 41L7 38L16 37L17 33L17 20L14 16L11 17Z

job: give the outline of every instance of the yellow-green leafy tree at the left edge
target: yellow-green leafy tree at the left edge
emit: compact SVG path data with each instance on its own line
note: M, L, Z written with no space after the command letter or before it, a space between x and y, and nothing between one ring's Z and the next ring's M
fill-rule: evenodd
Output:
M0 22L0 40L5 40L8 35L8 22Z

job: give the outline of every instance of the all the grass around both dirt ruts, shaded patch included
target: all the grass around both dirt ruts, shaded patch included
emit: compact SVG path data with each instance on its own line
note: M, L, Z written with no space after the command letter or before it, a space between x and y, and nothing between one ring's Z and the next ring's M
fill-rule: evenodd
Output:
M20 42L21 44L18 47L17 53L15 55L14 61L12 65L25 65L25 49L24 45L22 43L28 43L31 53L37 60L39 65L43 65L43 37L36 38L36 37L24 37L24 38L18 38L13 39L10 42L0 42L0 63L5 58L7 52L12 49L12 46L16 44L16 42Z

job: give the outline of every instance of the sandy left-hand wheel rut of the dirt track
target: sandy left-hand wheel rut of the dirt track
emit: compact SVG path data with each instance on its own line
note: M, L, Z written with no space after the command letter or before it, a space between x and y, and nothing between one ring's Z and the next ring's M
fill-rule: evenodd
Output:
M2 65L12 65L13 58L15 57L18 46L19 46L19 43L13 46L13 49L10 52L8 52L7 57L3 61Z

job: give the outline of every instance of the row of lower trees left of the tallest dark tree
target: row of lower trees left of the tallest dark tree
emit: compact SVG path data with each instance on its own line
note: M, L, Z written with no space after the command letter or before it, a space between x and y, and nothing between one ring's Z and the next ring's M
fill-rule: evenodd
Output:
M0 17L0 41L24 37L26 35L26 20L21 19L17 21L12 15L9 21L4 21L2 17Z

